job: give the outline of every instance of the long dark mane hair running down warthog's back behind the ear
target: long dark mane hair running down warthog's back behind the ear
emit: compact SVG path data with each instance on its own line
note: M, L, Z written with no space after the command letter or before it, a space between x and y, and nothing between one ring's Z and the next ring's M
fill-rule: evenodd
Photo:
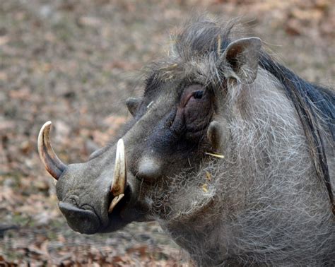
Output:
M335 136L335 94L327 88L309 83L285 66L278 64L262 52L259 65L274 75L283 85L287 97L297 111L305 131L317 176L323 180L335 214L334 196L331 190L329 169L325 155L321 129L327 128L332 141Z

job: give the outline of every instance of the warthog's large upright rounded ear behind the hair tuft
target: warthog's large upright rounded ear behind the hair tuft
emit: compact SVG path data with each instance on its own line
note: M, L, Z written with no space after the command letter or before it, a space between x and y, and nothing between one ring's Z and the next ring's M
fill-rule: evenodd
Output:
M223 53L223 60L233 73L229 78L237 78L242 83L252 83L257 77L257 66L261 40L257 37L242 38L231 42Z

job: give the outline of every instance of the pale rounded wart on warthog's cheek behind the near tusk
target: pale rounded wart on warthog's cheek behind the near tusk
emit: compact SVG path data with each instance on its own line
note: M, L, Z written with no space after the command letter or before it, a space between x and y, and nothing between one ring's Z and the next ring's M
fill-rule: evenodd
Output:
M144 157L139 162L139 170L137 177L146 180L146 182L153 182L161 174L162 164L160 160L155 158Z

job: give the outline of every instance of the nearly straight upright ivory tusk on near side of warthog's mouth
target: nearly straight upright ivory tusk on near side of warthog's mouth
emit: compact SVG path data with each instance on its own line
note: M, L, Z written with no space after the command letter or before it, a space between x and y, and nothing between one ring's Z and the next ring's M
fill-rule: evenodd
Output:
M108 212L112 212L114 206L124 197L124 189L127 184L127 166L124 153L124 142L122 139L117 141L117 153L114 165L114 175L110 192L114 196Z

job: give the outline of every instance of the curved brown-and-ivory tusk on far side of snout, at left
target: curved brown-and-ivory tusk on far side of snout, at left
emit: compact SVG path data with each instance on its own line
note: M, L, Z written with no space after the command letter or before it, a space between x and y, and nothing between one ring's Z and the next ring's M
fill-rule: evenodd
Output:
M51 124L51 121L47 121L40 129L37 139L37 148L40 159L42 160L43 165L45 165L47 172L49 172L54 179L59 179L64 172L66 165L59 160L51 146L49 136Z

